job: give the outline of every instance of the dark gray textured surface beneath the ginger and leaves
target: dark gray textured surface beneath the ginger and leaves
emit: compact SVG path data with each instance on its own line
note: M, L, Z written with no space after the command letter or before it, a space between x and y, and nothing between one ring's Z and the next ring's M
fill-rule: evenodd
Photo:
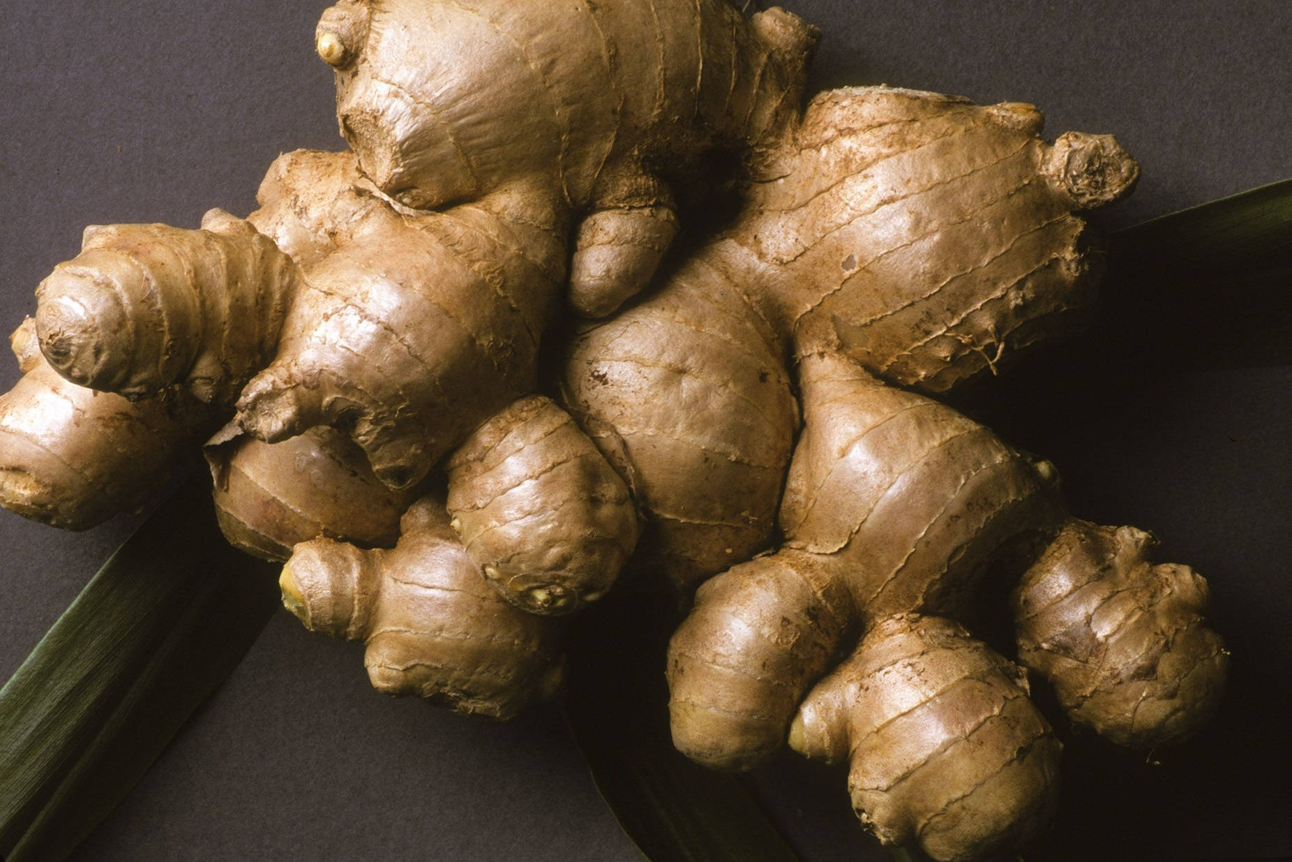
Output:
M1292 4L787 4L826 30L815 81L1031 101L1141 159L1129 224L1292 176ZM12 3L0 31L0 322L94 222L195 226L245 213L280 151L339 147L322 1ZM1134 380L1138 370L1125 370ZM0 362L0 384L17 377ZM1009 381L1001 381L1008 386ZM1194 743L1142 756L1070 739L1065 809L1030 862L1292 852L1287 560L1288 370L1088 389L1013 423L1080 514L1156 531L1212 580L1233 691ZM0 675L123 538L0 514ZM625 744L630 744L625 741ZM784 760L758 779L805 858L855 859L837 773ZM359 653L280 614L247 662L90 839L84 859L633 859L550 711L508 726L373 694Z

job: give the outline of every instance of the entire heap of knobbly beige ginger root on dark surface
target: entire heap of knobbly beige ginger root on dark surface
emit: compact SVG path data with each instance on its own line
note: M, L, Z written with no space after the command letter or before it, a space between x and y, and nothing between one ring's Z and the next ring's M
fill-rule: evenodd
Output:
M1022 575L1019 660L1115 742L1186 738L1226 673L1205 582L929 397L1085 314L1079 213L1138 168L1021 103L801 111L814 40L720 0L339 3L317 48L353 151L282 156L245 221L88 231L16 337L0 496L88 526L229 423L221 526L289 557L288 607L364 640L379 689L496 717L554 690L544 615L605 594L641 529L634 565L694 592L680 750L749 768L788 741L849 761L885 843L1018 848L1061 746L955 622L990 571ZM740 212L658 278L714 154ZM558 405L539 358L567 310L596 322Z

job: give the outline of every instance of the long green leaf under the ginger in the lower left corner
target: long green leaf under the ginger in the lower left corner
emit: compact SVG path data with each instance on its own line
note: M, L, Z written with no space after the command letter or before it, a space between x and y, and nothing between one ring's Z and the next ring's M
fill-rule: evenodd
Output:
M278 605L205 482L149 518L0 689L0 856L68 853L242 660Z

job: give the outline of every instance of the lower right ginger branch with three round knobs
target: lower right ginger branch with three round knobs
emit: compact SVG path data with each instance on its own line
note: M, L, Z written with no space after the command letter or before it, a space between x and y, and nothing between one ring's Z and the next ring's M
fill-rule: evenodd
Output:
M1196 575L1159 570L1159 582L1187 589L1162 583L1146 623L1134 619L1146 594L1109 602L1106 619L1092 623L1103 640L1125 620L1125 646L1087 633L1089 649L1074 651L1072 642L1085 646L1084 614L1129 580L1085 534L1143 534L1068 520L1047 463L846 359L805 358L801 375L806 430L782 503L786 541L708 580L669 646L683 753L748 768L788 733L802 753L851 759L854 806L885 843L919 843L937 859L1016 846L1053 812L1058 743L1027 700L1021 668L948 620L911 614L963 616L985 571L1017 574L1034 558L1021 606L1050 610L1071 631L1037 618L1057 641L1047 645L1054 655L1037 655L1027 646L1036 627L1021 623L1023 660L1056 681L1075 720L1093 724L1083 711L1096 688L1105 703L1094 710L1143 702L1130 710L1133 738L1111 728L1118 742L1164 744L1208 717L1226 666L1198 616ZM1124 557L1142 579L1140 545ZM1066 589L1068 606L1050 609ZM866 636L853 658L809 694L858 628ZM1080 660L1085 677L1062 667ZM1066 697L1068 680L1087 685Z

